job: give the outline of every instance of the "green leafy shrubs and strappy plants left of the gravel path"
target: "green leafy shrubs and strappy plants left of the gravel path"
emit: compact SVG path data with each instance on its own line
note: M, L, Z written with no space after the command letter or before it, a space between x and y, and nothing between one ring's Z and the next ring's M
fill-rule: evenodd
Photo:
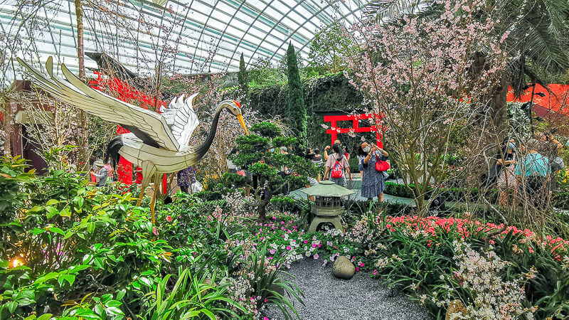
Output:
M25 168L0 164L10 192L1 208L1 319L257 319L267 302L289 304L285 292L301 299L265 247L230 245L249 233L212 218L227 201L180 196L153 226L120 186L97 190L64 170L36 178Z

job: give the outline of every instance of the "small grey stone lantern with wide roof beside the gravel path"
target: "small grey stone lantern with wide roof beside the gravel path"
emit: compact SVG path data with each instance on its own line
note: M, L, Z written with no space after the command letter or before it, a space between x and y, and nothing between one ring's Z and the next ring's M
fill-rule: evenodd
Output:
M304 188L301 190L307 196L314 196L314 206L312 206L312 213L314 219L310 224L308 233L314 233L320 223L332 223L334 228L344 231L341 223L341 214L344 213L342 207L342 196L349 196L354 191L338 186L332 181L322 181L316 186Z

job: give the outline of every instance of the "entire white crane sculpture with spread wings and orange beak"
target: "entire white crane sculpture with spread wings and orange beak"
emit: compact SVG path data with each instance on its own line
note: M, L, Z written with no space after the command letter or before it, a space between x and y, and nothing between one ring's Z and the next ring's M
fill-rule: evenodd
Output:
M65 80L59 78L53 74L51 57L46 62L49 78L19 58L18 63L28 69L37 81L36 84L53 97L130 131L111 140L107 145L107 157L110 156L113 164L117 164L119 155L123 156L142 169L142 190L138 206L142 202L144 191L154 179L154 195L150 203L152 223L155 223L156 193L162 181L161 177L186 169L206 155L215 138L219 117L224 109L237 117L245 134L248 134L239 103L224 100L216 109L206 141L198 146L188 146L191 134L199 124L192 107L197 93L187 99L184 99L184 95L174 98L159 114L122 102L85 85L64 64L61 65L61 70Z

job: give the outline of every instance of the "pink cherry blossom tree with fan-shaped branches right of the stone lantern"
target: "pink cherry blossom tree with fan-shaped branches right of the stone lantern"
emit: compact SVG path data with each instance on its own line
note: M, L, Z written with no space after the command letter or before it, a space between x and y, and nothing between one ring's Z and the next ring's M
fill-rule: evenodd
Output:
M508 32L497 31L491 18L476 18L491 17L491 7L482 0L437 3L445 11L436 18L404 13L390 23L353 26L361 54L349 57L351 72L344 72L369 112L381 114L376 121L386 148L422 212L430 204L423 191L449 178L445 156L485 117L492 84L507 63Z

